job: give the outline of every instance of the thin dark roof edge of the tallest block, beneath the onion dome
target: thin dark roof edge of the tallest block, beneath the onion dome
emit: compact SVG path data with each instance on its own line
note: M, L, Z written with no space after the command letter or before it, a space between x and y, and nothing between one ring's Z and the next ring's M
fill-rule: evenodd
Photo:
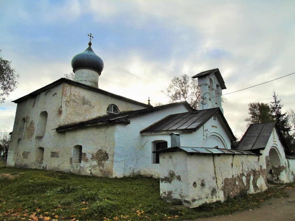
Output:
M64 78L64 77L63 78L60 78L60 79L56 80L55 82L53 82L53 83L51 83L49 85L46 85L46 86L44 86L44 87L42 87L42 88L40 88L38 90L35 90L32 93L30 93L30 94L27 94L27 95L25 95L25 96L23 96L21 98L18 98L16 100L13 100L12 102L14 102L14 103L20 103L23 100L26 100L26 99L28 99L30 97L34 97L34 96L38 95L39 93L41 93L42 91L49 90L50 88L53 88L56 85L59 85L59 84L62 84L62 83L68 83L68 84L71 84L71 85L78 86L80 88L85 88L87 90L92 90L92 91L95 91L95 92L100 93L100 94L104 94L104 95L107 95L107 96L110 96L110 97L113 97L113 98L124 100L124 101L127 101L129 103L134 103L134 104L137 104L137 105L141 105L144 108L150 108L149 105L144 104L144 103L141 103L141 102L138 102L136 100L132 100L132 99L129 99L129 98L125 98L123 96L120 96L120 95L109 93L109 92L107 92L105 90L101 90L99 88L91 87L89 85L82 84L82 83L79 83L77 81L69 80L69 79Z

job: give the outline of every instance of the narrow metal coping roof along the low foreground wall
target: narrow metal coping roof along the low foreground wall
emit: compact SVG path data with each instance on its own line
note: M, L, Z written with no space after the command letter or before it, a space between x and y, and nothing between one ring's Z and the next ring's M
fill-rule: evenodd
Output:
M232 149L221 149L221 148L205 148L205 147L184 147L184 146L176 146L165 149L160 149L153 151L153 153L163 153L163 152L178 152L184 151L186 153L194 153L194 154L250 154L250 155L261 155L257 153L253 153L251 151L244 150L232 150Z

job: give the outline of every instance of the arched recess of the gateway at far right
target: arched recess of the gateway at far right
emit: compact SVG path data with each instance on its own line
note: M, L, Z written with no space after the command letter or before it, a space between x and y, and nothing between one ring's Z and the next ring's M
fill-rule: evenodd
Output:
M279 182L278 176L283 170L283 166L278 151L271 148L268 154L267 179L272 182Z

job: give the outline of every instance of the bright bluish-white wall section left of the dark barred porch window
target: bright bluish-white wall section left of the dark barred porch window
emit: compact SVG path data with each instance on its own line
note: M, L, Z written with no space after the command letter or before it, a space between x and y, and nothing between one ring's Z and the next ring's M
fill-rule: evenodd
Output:
M151 140L141 136L140 131L162 118L175 113L187 112L184 105L158 110L130 119L128 125L116 125L114 177L123 177L133 174L158 177L159 165L151 162ZM169 138L170 141L170 138Z

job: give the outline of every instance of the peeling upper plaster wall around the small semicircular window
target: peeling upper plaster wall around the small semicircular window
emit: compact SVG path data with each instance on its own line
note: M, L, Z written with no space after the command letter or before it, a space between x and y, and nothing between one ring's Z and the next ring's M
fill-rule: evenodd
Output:
M110 104L115 104L119 108L119 112L147 108L144 105L63 83L60 123L58 126L106 115L106 108Z

